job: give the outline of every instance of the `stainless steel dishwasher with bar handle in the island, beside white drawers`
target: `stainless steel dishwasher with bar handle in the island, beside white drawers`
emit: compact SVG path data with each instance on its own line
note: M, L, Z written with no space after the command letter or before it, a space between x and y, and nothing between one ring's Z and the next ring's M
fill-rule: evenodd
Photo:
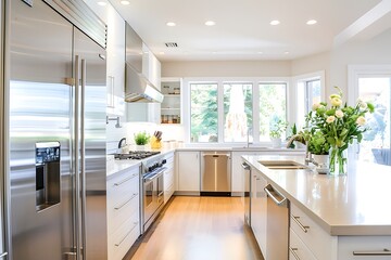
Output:
M267 194L267 259L288 259L289 200L270 184L264 191Z

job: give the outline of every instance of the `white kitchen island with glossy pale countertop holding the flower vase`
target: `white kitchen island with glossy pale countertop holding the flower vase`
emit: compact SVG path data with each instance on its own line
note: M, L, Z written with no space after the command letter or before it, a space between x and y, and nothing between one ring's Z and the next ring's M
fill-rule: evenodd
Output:
M390 259L384 248L391 249L391 167L354 161L346 176L331 177L261 164L294 160L304 165L302 156L243 159L291 203L291 259L357 259L354 255Z

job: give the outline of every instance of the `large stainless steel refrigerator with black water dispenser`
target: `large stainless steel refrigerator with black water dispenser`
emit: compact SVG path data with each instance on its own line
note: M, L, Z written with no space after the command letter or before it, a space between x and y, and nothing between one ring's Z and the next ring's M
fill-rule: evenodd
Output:
M10 259L108 259L106 27L80 0L7 4Z

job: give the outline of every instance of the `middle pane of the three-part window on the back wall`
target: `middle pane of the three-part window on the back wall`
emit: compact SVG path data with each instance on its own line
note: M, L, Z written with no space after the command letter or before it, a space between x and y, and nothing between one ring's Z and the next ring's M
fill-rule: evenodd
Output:
M251 130L252 83L224 83L224 142L252 141Z

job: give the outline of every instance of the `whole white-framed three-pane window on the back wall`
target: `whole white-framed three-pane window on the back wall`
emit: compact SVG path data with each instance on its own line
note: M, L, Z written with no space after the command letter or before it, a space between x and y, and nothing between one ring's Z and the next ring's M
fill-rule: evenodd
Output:
M270 142L269 130L275 121L288 121L289 79L201 80L185 79L188 88L184 88L184 98L188 99L189 105L184 102L182 122L186 128L186 140L190 143L243 146L249 142L260 145L261 142Z

